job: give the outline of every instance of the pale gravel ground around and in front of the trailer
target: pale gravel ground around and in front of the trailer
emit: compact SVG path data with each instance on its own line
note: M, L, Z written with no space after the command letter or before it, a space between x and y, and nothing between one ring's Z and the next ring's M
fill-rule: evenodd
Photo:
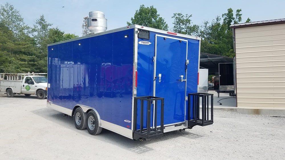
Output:
M284 159L285 118L214 110L214 124L134 141L77 130L36 96L0 96L0 159Z

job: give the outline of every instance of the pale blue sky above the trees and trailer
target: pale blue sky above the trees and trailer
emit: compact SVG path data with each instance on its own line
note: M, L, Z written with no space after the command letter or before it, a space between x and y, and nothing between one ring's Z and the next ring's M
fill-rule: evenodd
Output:
M193 24L201 25L205 20L211 21L217 15L226 13L230 7L234 11L242 9L242 22L245 22L247 17L253 22L285 18L284 0L1 0L0 5L5 5L6 2L20 12L29 26L33 26L35 20L44 14L46 21L53 24L52 27L58 27L65 33L74 33L78 36L82 36L83 17L87 17L89 11L104 12L107 30L111 30L126 26L126 22L131 21L131 17L142 4L146 7L153 5L167 22L169 29L173 27L171 18L173 13L192 15Z

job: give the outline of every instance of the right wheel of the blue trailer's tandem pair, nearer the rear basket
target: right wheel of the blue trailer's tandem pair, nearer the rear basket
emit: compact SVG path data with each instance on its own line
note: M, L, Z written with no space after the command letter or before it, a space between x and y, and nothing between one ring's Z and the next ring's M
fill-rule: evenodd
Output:
M100 134L102 131L102 127L99 126L99 120L97 114L91 110L87 114L86 118L87 130L92 135Z

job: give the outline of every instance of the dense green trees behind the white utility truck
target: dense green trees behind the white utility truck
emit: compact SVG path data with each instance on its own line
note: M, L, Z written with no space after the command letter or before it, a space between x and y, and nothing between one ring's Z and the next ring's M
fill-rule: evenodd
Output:
M46 73L47 45L78 37L51 25L41 15L30 29L13 5L1 5L0 73Z

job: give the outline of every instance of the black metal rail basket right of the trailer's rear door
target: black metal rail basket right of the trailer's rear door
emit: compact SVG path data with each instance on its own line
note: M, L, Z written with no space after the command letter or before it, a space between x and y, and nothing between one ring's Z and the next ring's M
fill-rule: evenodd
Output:
M211 97L210 97L211 96ZM211 117L209 119L209 97L211 102ZM202 113L200 113L200 98L202 99ZM207 126L213 124L213 94L188 93L188 127ZM200 118L200 114L202 117Z

